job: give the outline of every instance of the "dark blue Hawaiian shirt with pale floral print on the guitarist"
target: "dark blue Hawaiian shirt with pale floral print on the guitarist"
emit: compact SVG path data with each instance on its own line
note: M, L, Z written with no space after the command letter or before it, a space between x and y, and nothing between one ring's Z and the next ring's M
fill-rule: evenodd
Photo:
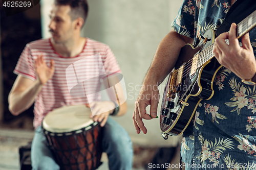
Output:
M172 27L195 42L208 29L217 30L230 0L185 0ZM256 9L255 9L256 10ZM250 33L256 54L256 29ZM200 102L193 127L181 142L181 159L191 169L256 169L256 86L246 85L222 67L214 96Z

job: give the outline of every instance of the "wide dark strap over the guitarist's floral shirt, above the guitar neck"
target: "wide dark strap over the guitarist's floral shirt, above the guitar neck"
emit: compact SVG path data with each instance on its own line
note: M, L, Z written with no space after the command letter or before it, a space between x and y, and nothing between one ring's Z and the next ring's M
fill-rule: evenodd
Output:
M238 24L255 10L255 0L237 0L228 10L222 24L216 30L216 35L219 36L221 33L228 32L231 23Z

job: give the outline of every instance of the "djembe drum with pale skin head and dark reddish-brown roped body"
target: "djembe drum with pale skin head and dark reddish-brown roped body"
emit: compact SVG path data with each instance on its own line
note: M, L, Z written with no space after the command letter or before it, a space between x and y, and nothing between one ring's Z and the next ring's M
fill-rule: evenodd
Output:
M101 127L84 105L49 112L42 128L61 169L92 170L101 164Z

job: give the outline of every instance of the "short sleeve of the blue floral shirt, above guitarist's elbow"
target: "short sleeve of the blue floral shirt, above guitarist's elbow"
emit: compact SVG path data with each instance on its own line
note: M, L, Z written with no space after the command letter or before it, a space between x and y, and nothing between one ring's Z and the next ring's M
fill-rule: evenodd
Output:
M200 6L200 2L199 0L184 0L177 17L171 24L177 33L194 38L195 13L198 11L197 6Z

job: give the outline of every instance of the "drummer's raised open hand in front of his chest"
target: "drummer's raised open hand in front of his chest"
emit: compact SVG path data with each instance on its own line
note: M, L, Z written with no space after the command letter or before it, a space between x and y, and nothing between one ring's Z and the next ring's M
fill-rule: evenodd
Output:
M37 74L37 79L39 79L42 85L46 84L46 82L52 78L54 74L54 61L50 61L50 66L48 66L40 54L35 60L35 71Z

